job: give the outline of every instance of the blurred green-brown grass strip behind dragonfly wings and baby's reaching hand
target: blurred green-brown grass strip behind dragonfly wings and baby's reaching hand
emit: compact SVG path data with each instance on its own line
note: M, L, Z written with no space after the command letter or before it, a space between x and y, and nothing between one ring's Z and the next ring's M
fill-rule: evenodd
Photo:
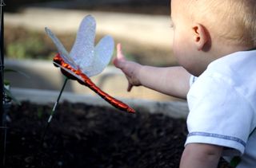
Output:
M41 59L52 60L57 53L54 43L42 29L35 31L23 27L5 26L5 53L7 58L12 59ZM76 37L75 33L57 33L67 51L70 51ZM99 41L102 34L97 34L95 41ZM136 61L140 64L170 66L175 65L170 52L163 49L154 49L152 46L145 46L114 37L115 42L122 43L122 52L127 60ZM113 57L116 56L114 51ZM111 64L111 63L110 63Z

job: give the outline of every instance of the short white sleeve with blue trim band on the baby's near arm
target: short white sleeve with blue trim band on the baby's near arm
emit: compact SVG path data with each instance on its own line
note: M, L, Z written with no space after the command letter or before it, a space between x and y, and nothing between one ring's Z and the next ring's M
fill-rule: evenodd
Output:
M186 144L208 143L226 147L223 155L243 154L250 135L250 104L229 80L198 77L187 96L190 114Z

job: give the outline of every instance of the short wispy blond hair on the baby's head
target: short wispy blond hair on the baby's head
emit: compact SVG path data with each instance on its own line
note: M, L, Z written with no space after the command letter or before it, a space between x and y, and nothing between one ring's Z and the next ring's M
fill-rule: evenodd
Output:
M256 46L255 0L187 0L186 8L191 19L206 23L218 37Z

